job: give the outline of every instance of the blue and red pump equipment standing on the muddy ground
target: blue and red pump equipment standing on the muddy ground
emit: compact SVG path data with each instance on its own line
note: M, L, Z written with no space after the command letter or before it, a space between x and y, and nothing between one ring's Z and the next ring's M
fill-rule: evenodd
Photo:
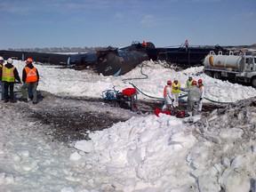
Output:
M126 88L122 92L116 91L115 86L113 90L105 90L102 92L104 100L115 101L115 107L127 108L132 111L138 110L137 108L137 90L135 88Z

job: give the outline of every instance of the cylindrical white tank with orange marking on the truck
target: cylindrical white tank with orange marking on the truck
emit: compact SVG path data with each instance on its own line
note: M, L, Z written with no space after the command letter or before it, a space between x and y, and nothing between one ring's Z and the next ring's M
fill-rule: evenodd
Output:
M230 52L229 55L222 55L222 52L216 55L210 52L210 54L204 58L204 68L244 71L244 60L241 56L234 55L233 52Z

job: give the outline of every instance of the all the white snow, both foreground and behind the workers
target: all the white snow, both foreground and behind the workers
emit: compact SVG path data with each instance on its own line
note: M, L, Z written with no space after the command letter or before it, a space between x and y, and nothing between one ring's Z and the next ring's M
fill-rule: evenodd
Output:
M25 63L15 60L14 66L21 77ZM122 91L134 84L144 93L139 100L154 100L163 98L167 80L177 78L184 87L188 74L203 79L210 100L238 102L256 95L251 86L205 76L203 68L175 72L161 62L145 61L117 77L35 66L38 90L57 95L101 98L113 86ZM250 135L244 127L255 129L255 108L248 109L246 118L238 114L234 125L229 112L212 113L203 128L164 114L133 116L71 146L50 140L41 131L44 124L27 122L3 102L0 108L0 191L256 191L256 145L244 138ZM244 119L249 120L240 124Z

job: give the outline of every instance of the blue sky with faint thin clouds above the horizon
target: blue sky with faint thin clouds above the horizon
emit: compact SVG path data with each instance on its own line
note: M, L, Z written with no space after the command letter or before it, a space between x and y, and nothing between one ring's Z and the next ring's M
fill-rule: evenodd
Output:
M256 43L255 0L0 0L0 49Z

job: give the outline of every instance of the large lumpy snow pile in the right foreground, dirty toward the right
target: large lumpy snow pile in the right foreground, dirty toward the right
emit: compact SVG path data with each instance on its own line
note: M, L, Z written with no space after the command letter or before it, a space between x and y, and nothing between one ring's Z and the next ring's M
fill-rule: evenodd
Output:
M254 191L255 105L255 98L239 102L192 125L134 117L75 147L86 152L85 164L108 175L100 190Z

